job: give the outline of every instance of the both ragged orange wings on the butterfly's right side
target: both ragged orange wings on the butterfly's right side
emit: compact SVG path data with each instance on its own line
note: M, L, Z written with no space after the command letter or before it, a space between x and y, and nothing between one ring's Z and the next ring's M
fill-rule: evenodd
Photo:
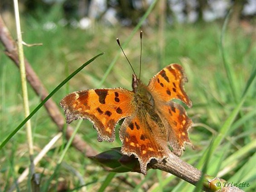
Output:
M171 64L152 77L148 86L155 101L155 111L166 128L165 138L178 156L184 150L184 143L191 144L188 130L192 120L188 118L183 106L171 100L179 99L187 106L192 106L183 88L187 81L183 68L178 64Z

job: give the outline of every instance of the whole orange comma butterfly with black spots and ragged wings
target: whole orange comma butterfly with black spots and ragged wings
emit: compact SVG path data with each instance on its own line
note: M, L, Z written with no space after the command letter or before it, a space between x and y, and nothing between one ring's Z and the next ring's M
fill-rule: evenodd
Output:
M60 105L67 123L90 120L99 141L114 141L115 126L124 119L119 131L121 152L135 155L141 173L146 174L151 159L161 162L168 158L169 145L178 156L185 143L193 147L188 138L192 120L184 107L173 101L179 99L192 107L184 91L187 81L183 68L174 63L152 77L148 85L133 74L132 91L121 87L75 91Z

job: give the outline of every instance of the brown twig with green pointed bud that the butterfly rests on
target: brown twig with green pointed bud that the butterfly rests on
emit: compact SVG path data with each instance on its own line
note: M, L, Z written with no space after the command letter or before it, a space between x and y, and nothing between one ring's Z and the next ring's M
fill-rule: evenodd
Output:
M103 167L108 167L112 172L137 172L141 173L140 163L134 155L127 156L121 153L121 147L112 148L96 156L89 157ZM242 192L237 187L227 187L228 182L222 178L212 177L204 174L192 165L184 162L181 158L174 155L171 151L168 153L168 158L165 158L161 163L152 159L147 168L159 169L171 173L194 186L201 186L206 192L213 192L222 189L228 189L229 192ZM203 174L203 175L202 175ZM226 187L226 188L225 188Z

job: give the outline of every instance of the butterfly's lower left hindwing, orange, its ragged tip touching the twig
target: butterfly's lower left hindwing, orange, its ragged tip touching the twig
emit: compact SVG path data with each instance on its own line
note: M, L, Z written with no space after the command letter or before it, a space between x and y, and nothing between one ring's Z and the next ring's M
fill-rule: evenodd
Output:
M158 162L167 157L166 141L165 145L160 145L158 138L163 138L164 133L158 128L164 130L161 121L154 121L148 113L141 113L127 117L120 130L120 139L123 143L121 151L123 154L134 154L140 162L140 170L146 174L147 164L152 158ZM165 131L165 130L164 130ZM161 135L160 135L161 134Z

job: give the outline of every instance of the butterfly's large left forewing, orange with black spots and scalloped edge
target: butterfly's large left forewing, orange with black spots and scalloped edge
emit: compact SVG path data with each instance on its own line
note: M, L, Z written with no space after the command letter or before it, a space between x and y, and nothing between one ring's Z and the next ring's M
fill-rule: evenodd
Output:
M134 93L123 88L91 89L70 93L60 105L67 123L88 119L97 130L99 141L113 141L116 123L135 111L133 98Z

